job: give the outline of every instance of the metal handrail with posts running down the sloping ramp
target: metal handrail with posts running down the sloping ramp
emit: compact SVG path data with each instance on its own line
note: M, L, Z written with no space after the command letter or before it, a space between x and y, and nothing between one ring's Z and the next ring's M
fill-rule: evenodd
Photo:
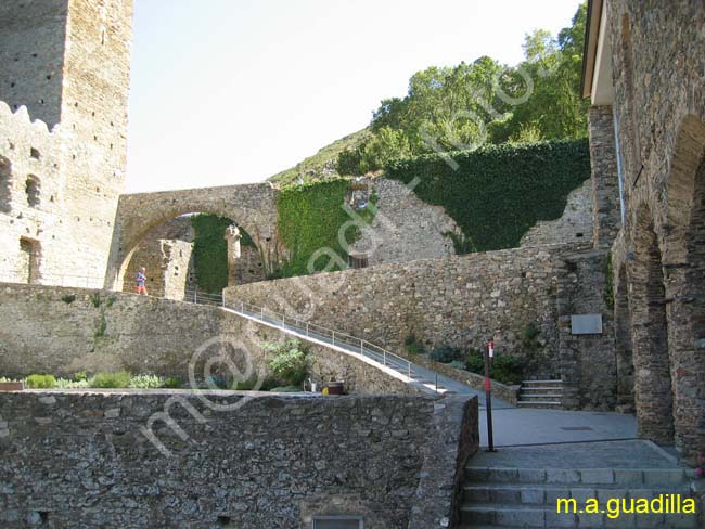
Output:
M323 325L311 323L309 321L298 320L292 317L287 318L285 313L275 312L265 307L259 307L245 301L228 302L223 298L222 307L235 312L240 312L242 315L254 318L262 322L269 321L275 324L281 323L282 327L296 330L300 335L306 337L316 337L315 335L318 335L322 338L330 338L331 345L333 346L346 345L348 347L355 348L360 352L360 354L376 362L380 362L381 360L380 363L383 365L392 367L399 373L406 372L407 377L411 378L411 367L413 364L409 360L400 357L399 354L395 354L394 352L388 351L383 347L371 344L363 338L358 338L350 334L324 327ZM400 369L395 366L395 363L399 365Z

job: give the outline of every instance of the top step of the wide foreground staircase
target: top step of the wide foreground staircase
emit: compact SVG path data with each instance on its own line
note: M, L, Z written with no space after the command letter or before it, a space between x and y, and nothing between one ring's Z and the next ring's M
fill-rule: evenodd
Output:
M465 482L530 483L544 485L624 485L671 487L688 486L695 479L695 472L685 468L495 468L465 467Z

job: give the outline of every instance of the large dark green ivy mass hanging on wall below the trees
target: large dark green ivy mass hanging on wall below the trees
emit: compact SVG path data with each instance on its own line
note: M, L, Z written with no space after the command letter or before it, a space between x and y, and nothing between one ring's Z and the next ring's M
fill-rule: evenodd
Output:
M424 202L444 206L471 242L467 249L516 247L539 220L563 215L567 196L590 177L587 140L487 145L476 151L394 160L387 178L414 189Z

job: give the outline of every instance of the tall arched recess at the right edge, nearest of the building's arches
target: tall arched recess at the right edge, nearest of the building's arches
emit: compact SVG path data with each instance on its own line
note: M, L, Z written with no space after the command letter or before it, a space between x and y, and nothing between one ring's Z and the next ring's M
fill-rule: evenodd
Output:
M705 451L705 122L696 116L680 124L667 190L676 443L694 461Z

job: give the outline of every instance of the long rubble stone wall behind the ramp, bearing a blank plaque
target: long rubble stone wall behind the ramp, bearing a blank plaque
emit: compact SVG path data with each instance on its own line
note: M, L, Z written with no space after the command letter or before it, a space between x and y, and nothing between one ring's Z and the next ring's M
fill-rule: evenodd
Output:
M493 337L498 352L523 358L530 374L560 377L560 317L604 304L604 258L591 251L589 245L556 245L384 264L238 286L226 289L226 299L284 309L402 354L409 336L427 349L444 344L482 348ZM565 264L576 255L585 259L585 292L560 297L561 285L578 281ZM577 298L592 291L598 293L589 298L594 307L580 305ZM540 331L537 351L522 344L529 326ZM603 341L605 354L614 351L608 341ZM580 354L592 351L581 347ZM602 408L600 399L592 402Z

